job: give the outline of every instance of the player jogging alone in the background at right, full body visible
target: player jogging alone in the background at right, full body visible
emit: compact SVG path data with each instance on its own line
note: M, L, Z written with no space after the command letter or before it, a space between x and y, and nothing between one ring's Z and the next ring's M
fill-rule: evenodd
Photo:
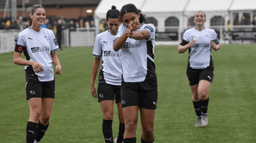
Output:
M204 27L206 14L196 12L194 16L196 27L186 30L178 47L179 53L189 49L187 78L192 91L192 101L197 115L195 126L206 127L209 89L214 77L214 65L211 48L219 50L220 44L213 29Z

